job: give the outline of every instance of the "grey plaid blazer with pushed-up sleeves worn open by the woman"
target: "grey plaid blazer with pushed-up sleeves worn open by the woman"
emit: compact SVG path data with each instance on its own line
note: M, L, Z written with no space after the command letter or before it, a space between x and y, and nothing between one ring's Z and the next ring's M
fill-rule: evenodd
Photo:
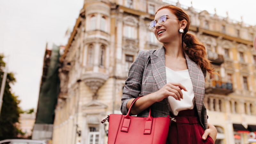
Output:
M129 69L128 78L122 95L121 112L127 114L127 102L138 96L145 96L156 92L166 84L164 46L157 50L141 50ZM195 94L195 105L204 129L207 126L207 114L204 106L204 79L206 71L202 72L198 65L189 59L185 54L189 75L193 84ZM151 115L153 117L166 117L170 112L168 98L151 105ZM137 116L147 117L148 109L142 111Z

